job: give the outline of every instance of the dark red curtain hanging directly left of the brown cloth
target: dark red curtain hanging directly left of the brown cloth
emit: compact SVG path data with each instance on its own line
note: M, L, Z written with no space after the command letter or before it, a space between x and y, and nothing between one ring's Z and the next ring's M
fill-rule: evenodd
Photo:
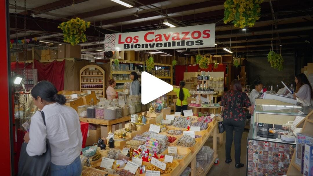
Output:
M38 71L38 81L50 81L58 91L64 89L65 60L43 64L34 60L34 68Z

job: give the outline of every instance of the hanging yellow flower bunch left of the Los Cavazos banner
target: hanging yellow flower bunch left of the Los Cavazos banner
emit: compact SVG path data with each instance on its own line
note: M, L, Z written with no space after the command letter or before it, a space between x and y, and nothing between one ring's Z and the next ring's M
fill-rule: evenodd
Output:
M85 22L80 18L72 18L67 22L61 23L58 28L62 29L64 42L68 42L72 45L80 43L80 41L86 41L85 31L89 28L90 22Z

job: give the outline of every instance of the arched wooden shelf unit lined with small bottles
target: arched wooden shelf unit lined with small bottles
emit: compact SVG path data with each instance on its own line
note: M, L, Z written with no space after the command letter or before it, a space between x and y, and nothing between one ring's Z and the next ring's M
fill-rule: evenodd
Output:
M92 74L93 72L98 72L101 73L102 75L83 75L83 73L85 72L90 72L90 74ZM101 82L91 82L91 81L85 81L85 79L101 79ZM97 96L100 96L100 97L105 97L105 83L104 83L104 80L105 80L105 72L104 70L99 67L98 65L86 65L85 67L83 67L82 69L80 69L80 91L82 90L93 90L93 91L96 91L96 90L99 90L99 91L102 91L102 95L99 95L97 92L96 92L96 95ZM88 84L99 84L99 85L102 85L102 88L82 88L83 85L88 85Z

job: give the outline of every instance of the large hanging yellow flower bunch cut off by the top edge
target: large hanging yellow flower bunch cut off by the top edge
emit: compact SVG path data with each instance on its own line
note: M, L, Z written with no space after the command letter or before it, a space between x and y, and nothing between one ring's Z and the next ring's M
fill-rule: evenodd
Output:
M234 27L252 27L261 16L260 3L263 0L226 0L224 23L232 22Z

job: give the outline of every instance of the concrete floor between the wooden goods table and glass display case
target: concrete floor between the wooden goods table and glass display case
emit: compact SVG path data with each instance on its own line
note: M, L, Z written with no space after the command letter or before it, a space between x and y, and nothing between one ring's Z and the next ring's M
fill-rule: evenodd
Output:
M225 140L226 140L226 132L224 132L224 141L223 145L217 145L217 154L219 158L219 164L213 165L212 168L209 170L207 176L215 176L215 175L222 175L222 176L245 176L246 175L246 155L247 155L247 137L248 137L248 130L245 130L242 139L241 139L241 158L240 162L244 163L244 167L242 168L235 168L235 151L234 151L234 144L232 145L231 156L233 161L229 164L225 163ZM204 144L207 146L213 147L213 137L210 137L208 141Z

